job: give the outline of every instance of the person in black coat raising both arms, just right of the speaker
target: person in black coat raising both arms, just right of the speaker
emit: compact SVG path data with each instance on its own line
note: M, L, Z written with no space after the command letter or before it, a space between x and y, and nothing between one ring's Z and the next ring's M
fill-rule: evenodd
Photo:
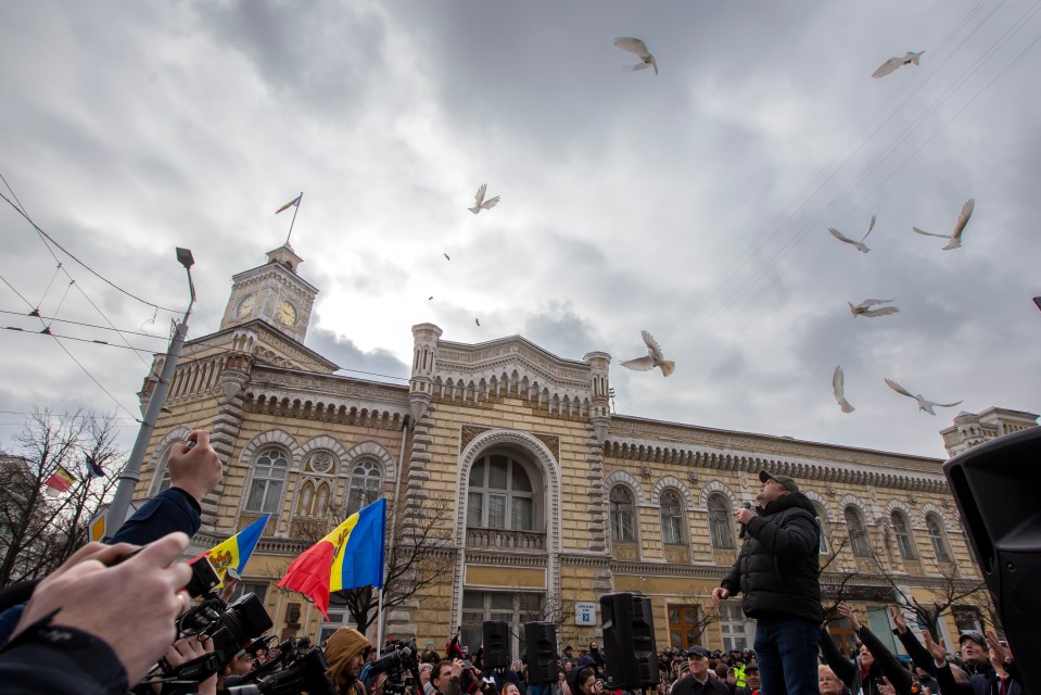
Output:
M896 688L897 695L911 695L911 686L914 682L911 672L866 626L862 626L856 620L856 616L849 606L841 603L838 608L842 617L849 620L850 628L861 641L862 646L858 658L849 660L839 652L827 629L821 628L821 653L836 675L853 693L878 695L879 685L884 683L885 677Z

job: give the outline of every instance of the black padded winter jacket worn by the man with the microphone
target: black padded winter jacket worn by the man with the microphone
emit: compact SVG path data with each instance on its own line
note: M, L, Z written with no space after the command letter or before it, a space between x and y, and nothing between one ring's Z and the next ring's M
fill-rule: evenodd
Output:
M744 593L749 618L824 620L821 606L820 529L813 503L792 492L756 507L737 561L723 578L732 596Z

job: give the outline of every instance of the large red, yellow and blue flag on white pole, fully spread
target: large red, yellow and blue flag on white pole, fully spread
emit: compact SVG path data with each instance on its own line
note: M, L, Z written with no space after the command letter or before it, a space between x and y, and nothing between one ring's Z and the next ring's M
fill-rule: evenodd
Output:
M313 598L328 620L330 592L368 585L383 587L385 525L386 500L377 500L304 551L278 585Z

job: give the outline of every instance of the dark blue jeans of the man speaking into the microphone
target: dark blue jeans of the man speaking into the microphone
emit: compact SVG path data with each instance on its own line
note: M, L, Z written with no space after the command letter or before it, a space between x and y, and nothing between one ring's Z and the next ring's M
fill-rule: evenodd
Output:
M760 620L756 628L756 660L762 695L820 695L817 624L800 618Z

